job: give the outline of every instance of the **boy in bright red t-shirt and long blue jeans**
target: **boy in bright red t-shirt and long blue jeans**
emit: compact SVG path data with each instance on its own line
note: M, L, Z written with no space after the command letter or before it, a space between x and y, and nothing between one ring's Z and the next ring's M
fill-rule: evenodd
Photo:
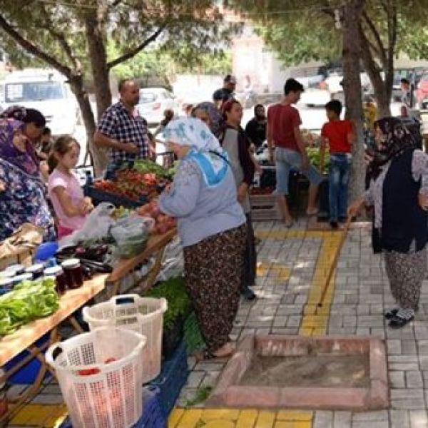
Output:
M328 174L330 225L333 229L337 229L337 222L345 221L347 217L347 190L355 131L352 121L340 120L340 113L342 113L340 101L330 101L325 105L325 111L328 122L322 126L321 151L325 150L326 145L330 148Z

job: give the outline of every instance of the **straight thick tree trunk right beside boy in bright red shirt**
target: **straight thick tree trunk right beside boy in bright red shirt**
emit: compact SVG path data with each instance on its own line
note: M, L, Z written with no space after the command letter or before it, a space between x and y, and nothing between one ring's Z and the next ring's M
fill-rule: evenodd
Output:
M365 0L348 0L344 8L342 61L347 118L355 123L357 139L352 147L350 200L355 200L364 191L364 135L362 88L360 81L360 17Z

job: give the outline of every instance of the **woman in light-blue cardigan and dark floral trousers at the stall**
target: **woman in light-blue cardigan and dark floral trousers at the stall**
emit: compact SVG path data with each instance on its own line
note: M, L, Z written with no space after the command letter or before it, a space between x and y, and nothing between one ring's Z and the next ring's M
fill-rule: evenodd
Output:
M225 357L238 311L246 226L227 154L195 118L171 121L163 132L180 163L159 208L178 219L185 281L207 349L200 357Z

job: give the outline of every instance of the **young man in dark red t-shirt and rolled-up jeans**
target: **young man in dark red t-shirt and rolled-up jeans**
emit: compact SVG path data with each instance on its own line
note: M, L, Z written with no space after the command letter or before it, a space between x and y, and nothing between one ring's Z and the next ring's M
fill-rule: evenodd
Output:
M306 146L300 133L302 123L297 108L292 104L300 100L303 86L294 78L289 78L284 86L284 98L267 111L267 146L270 162L276 165L276 193L282 218L287 228L292 226L292 216L287 204L288 178L290 170L300 171L310 182L307 215L316 215L317 190L322 175L310 165Z

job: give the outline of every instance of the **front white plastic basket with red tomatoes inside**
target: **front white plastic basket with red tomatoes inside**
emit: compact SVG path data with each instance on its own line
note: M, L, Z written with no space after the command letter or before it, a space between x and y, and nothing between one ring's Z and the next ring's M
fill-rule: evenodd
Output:
M115 327L57 342L46 352L73 427L128 428L143 412L141 355L146 338Z

